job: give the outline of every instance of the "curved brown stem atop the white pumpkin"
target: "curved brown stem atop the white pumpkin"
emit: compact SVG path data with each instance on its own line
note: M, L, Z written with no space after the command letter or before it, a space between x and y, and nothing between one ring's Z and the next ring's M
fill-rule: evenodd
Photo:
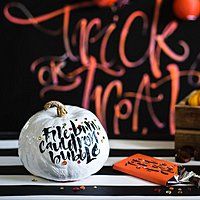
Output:
M67 114L65 106L59 101L49 101L44 105L44 109L48 110L49 108L56 107L58 117L63 117Z

